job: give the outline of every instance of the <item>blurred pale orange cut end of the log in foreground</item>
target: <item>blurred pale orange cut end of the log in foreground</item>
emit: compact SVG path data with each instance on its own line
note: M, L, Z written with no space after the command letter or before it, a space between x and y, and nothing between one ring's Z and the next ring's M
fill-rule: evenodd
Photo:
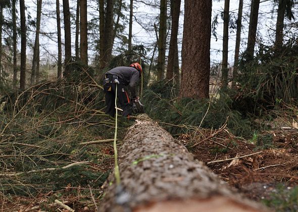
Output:
M138 206L133 212L197 212L197 211L213 211L213 212L255 212L265 211L251 207L250 205L239 204L230 198L217 196L208 199L186 199L186 200L166 200L154 202L147 205Z

